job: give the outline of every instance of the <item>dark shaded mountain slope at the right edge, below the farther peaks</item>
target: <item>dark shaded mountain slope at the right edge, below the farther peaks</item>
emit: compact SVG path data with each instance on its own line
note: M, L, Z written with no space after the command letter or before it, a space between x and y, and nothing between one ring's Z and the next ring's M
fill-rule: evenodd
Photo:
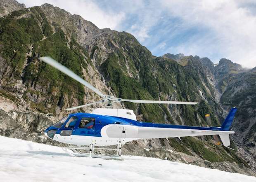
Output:
M240 73L227 86L220 102L239 108L234 122L236 140L256 158L256 72Z

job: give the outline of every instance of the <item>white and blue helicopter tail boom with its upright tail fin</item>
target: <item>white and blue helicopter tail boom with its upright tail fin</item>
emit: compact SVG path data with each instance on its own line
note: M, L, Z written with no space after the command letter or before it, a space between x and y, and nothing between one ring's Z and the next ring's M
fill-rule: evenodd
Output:
M129 141L151 138L172 138L187 136L219 135L225 147L230 146L229 131L237 108L232 108L221 127L181 126L137 122L136 125L109 124L102 128L102 137L126 138Z

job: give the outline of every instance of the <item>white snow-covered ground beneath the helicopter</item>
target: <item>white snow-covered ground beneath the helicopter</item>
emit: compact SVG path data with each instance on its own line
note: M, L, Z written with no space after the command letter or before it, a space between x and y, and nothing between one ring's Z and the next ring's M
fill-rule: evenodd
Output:
M71 157L60 147L3 136L0 146L1 182L256 182L247 175L141 156Z

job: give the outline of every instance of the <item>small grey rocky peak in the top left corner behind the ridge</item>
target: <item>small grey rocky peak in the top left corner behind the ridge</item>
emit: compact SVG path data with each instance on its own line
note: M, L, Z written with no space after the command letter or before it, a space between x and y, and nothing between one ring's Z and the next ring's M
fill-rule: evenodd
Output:
M0 1L0 17L5 16L11 12L25 9L24 4L20 4L16 0L1 0Z

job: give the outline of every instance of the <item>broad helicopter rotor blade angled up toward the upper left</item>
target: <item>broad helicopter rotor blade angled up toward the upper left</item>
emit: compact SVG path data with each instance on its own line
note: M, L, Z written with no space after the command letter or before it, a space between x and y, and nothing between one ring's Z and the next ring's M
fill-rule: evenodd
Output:
M91 84L86 82L84 79L82 79L81 77L76 75L73 71L69 70L69 68L66 68L64 65L58 63L57 61L55 61L51 57L40 57L39 59L42 60L43 62L51 65L52 67L56 68L57 70L65 73L66 75L70 76L71 78L75 79L76 81L83 84L84 86L87 86L89 89L91 89L95 93L99 94L101 97L106 97L103 93L101 93L94 86L92 86Z

